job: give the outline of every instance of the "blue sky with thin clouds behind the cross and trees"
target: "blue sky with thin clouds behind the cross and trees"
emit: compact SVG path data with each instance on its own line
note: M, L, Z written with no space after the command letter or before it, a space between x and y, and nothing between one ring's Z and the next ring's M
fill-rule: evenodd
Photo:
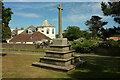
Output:
M11 29L16 27L27 28L30 25L35 27L43 23L45 16L48 22L56 26L58 33L58 9L59 3L62 4L62 29L67 26L78 26L81 30L87 30L88 26L84 23L91 16L102 17L103 21L108 21L104 28L117 26L110 16L103 16L100 2L4 2L5 7L10 7L14 14L10 21Z

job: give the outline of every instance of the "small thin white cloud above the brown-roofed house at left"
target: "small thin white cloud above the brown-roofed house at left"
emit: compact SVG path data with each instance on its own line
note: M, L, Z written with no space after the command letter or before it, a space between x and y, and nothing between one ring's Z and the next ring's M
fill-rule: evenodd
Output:
M21 16L21 17L27 17L27 18L39 18L40 16L35 13L21 13L21 12L15 12L15 15Z

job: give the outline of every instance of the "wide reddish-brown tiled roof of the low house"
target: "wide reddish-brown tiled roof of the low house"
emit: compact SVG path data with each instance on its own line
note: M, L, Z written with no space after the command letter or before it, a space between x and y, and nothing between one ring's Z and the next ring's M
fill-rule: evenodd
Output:
M43 39L51 39L46 35L42 34L41 32L35 32L33 34L19 34L15 36L10 42L34 42L34 41L41 41Z

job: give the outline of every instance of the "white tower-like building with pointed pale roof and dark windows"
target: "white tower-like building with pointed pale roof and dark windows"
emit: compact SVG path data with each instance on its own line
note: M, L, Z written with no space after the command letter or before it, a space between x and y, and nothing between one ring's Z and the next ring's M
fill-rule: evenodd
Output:
M50 37L51 39L55 38L55 26L50 24L46 19L40 26L37 27L37 31L45 34L46 36Z

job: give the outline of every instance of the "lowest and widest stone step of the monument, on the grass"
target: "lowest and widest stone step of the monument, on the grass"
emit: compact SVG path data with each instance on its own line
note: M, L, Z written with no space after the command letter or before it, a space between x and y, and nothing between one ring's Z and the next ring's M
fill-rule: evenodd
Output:
M62 70L62 71L65 71L65 72L68 72L70 70L75 69L74 65L69 65L69 66L65 67L65 66L57 66L57 65L46 64L46 63L41 63L41 62L34 62L32 65L33 66L38 66L38 67L44 67L44 68L52 68L52 69L56 69L56 70Z

